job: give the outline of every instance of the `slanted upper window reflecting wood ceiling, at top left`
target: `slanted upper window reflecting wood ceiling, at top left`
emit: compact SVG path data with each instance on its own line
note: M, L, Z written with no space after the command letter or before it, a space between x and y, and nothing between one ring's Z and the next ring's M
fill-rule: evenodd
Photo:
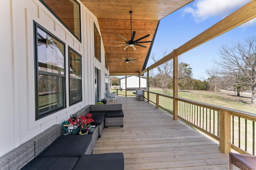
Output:
M80 4L76 0L40 0L81 41Z

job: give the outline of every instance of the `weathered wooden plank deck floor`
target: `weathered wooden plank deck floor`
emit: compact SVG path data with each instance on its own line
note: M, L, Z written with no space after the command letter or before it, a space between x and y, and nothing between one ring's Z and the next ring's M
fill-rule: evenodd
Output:
M229 156L216 143L146 100L117 96L116 103L124 127L105 128L93 154L123 152L125 170L229 169Z

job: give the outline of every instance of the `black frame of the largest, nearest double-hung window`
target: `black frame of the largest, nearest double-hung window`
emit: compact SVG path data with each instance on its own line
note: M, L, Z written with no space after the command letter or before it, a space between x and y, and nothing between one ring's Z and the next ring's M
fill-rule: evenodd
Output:
M63 44L63 57L64 57L64 74L56 74L56 73L52 73L52 72L45 72L45 71L40 71L38 70L38 38L37 38L37 29L41 29L42 31L46 32L47 34L49 34L50 36L52 36L54 39L56 39L57 41L59 41L60 43ZM60 39L58 39L58 37L56 37L55 35L53 35L52 33L50 33L50 31L48 31L47 29L45 29L44 27L42 27L40 24L38 24L36 21L33 21L33 33L34 33L34 72L35 72L35 120L38 120L38 119L41 119L43 117L46 117L48 115L51 115L53 113L56 113L57 111L60 111L64 108L66 108L66 69L65 69L65 66L66 66L66 60L65 60L65 48L66 48L66 44L61 41ZM50 110L46 113L43 113L40 115L40 112L39 112L39 74L44 74L46 76L58 76L58 77L62 77L63 80L62 80L62 91L63 91L63 106L62 107L59 107L59 108L56 108L56 109L53 109L53 110Z

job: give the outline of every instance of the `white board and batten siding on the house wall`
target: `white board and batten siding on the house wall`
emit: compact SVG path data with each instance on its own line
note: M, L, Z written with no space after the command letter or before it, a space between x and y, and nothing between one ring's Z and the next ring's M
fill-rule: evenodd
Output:
M104 46L101 41L101 62L94 59L94 23L100 33L97 18L81 6L81 42L56 19L39 0L2 0L0 67L0 156L18 147L48 127L62 123L88 104L94 104L94 68L100 70L100 96L104 97ZM82 102L69 106L68 62L66 62L66 108L35 121L34 33L36 21L82 55Z

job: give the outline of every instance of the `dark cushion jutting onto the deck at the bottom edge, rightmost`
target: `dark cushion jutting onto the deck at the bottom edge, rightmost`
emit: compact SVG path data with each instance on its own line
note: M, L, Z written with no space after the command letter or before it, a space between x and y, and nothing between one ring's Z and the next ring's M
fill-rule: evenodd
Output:
M84 154L73 170L124 170L123 153Z

